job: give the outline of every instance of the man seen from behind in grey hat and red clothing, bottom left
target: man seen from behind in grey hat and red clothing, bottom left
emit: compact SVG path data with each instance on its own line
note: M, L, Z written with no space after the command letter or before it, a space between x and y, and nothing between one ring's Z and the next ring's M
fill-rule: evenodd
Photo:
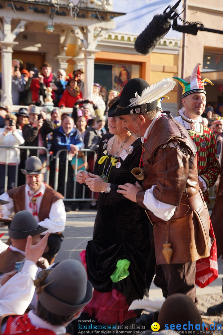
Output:
M76 260L64 260L53 269L39 272L34 284L36 310L10 316L2 334L65 334L68 323L77 319L92 299L93 286L84 266Z

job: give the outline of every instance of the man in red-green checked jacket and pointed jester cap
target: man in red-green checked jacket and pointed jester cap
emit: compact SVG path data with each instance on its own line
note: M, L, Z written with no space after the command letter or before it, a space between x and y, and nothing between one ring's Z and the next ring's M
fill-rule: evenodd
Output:
M199 186L203 192L205 201L210 203L208 188L214 186L220 173L217 159L217 143L214 133L201 124L206 106L206 91L204 84L211 83L205 78L201 80L199 63L195 66L190 82L174 77L183 87L180 116L176 120L184 126L197 147L197 163ZM213 85L213 84L212 84Z

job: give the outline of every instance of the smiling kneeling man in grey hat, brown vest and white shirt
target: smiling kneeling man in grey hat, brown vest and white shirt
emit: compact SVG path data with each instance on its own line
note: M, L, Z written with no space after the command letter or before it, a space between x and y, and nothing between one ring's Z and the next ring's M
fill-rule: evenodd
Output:
M49 250L44 257L51 264L61 247L61 232L66 223L64 197L43 182L46 167L38 157L29 157L21 172L25 175L26 184L1 195L2 200L9 201L3 205L3 218L8 218L13 211L27 210L40 226L47 228Z

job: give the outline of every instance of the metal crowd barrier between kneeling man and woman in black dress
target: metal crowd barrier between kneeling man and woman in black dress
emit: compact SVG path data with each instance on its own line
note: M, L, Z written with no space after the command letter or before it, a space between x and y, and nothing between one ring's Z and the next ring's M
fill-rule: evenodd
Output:
M57 155L55 157L55 177L54 177L54 190L58 190L58 183L59 183L59 167L60 167L60 153L62 151L67 151L66 153L66 165L65 165L65 183L64 183L64 194L67 194L67 184L68 184L68 164L71 164L71 160L69 160L69 150L59 150L57 152ZM81 149L81 151L88 153L88 152L94 152L94 161L95 161L95 156L96 156L96 152L94 150L90 150L90 149ZM73 157L72 157L73 158ZM85 154L85 163L87 162L87 154ZM86 167L84 169L84 171L86 171ZM74 171L74 175L76 176L78 172L78 153L76 153L75 155L75 171ZM76 189L77 189L77 181L73 181L74 183L74 191L73 191L73 198L69 199L66 198L64 199L64 201L92 201L94 198L94 192L91 192L91 197L90 198L85 198L85 187L83 187L83 192L82 192L82 198L76 198ZM94 199L95 200L95 199Z

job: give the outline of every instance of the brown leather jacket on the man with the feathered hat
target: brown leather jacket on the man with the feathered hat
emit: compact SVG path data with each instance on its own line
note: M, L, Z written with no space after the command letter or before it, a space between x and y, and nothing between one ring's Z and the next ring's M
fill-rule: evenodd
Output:
M145 190L156 185L154 197L177 206L174 216L166 222L147 208L146 212L154 223L157 264L166 264L162 255L162 245L166 241L173 249L170 263L186 263L209 256L210 219L198 184L196 146L188 131L170 112L165 113L166 116L155 122L144 144L144 190L137 193L136 200L146 208L143 204ZM180 148L168 146L170 142L178 142Z

